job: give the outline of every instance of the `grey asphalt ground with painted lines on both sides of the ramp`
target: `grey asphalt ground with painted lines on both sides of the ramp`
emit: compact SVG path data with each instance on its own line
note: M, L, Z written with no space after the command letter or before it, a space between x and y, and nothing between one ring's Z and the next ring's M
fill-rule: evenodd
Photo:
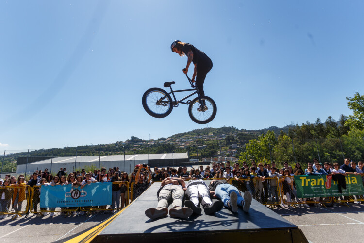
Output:
M274 212L295 224L313 243L363 242L364 204L338 207L274 208ZM0 220L0 242L62 242L77 236L109 218L111 213L90 216L68 216L60 213L39 218L29 217Z

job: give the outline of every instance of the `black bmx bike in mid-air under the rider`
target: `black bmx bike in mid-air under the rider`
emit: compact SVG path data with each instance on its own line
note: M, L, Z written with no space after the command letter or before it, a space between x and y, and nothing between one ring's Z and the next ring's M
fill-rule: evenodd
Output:
M197 86L192 83L187 74L186 77L190 82L192 89L173 90L172 85L175 84L174 81L165 82L163 85L165 88L170 88L171 91L169 93L161 88L149 88L143 94L142 98L142 104L145 111L152 117L164 118L172 112L173 107L178 107L179 104L188 104L188 115L192 121L198 124L206 124L212 121L215 118L217 111L215 101L208 96L200 96ZM177 101L174 93L187 91L194 92ZM197 94L196 98L184 102L184 100L195 94Z

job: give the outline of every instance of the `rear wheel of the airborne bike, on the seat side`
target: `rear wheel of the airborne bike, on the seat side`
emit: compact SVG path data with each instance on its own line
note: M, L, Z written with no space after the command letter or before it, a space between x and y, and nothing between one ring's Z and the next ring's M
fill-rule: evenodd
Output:
M173 109L171 97L161 88L149 88L143 95L142 104L145 111L155 118L164 118Z

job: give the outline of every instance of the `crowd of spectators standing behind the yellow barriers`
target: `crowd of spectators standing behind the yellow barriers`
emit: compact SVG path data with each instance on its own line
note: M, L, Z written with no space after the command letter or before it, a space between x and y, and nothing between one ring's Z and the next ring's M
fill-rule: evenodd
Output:
M8 216L7 212L11 211L15 213L14 218L22 211L24 202L28 200L28 194L30 191L25 185L29 185L32 189L37 186L37 193L33 193L33 205L28 207L28 211L25 212L25 216L29 215L29 210L32 208L35 215L42 217L50 212L50 217L53 217L56 212L55 208L40 208L38 210L38 204L40 199L40 191L42 186L62 186L72 184L74 186L83 187L90 185L91 183L113 183L112 186L112 203L109 206L98 206L95 208L84 207L80 208L67 208L71 215L83 215L89 214L91 211L102 212L106 211L114 212L116 209L124 208L129 201L127 199L127 192L131 192L129 195L131 200L135 200L140 194L142 194L152 182L163 181L168 178L180 178L183 180L200 180L200 179L225 179L231 180L231 184L236 186L240 191L249 191L252 197L261 203L273 203L277 207L281 207L283 199L288 203L302 204L304 207L309 207L306 203L307 200L314 203L314 206L321 207L320 198L298 198L297 191L294 183L294 179L291 176L294 175L332 175L333 180L338 182L339 191L341 193L342 188L346 188L345 176L347 174L362 175L364 174L363 162L355 163L350 159L345 159L344 164L331 164L325 162L323 165L314 159L313 162L308 163L307 168L302 168L300 163L296 163L295 168L284 162L284 167L276 168L276 164L273 161L271 164L258 163L251 161L249 167L246 162L243 162L242 167L239 163L234 163L232 166L230 162L227 163L212 163L210 165L200 165L198 168L192 168L187 171L187 167L178 168L158 168L155 167L153 172L146 164L137 165L134 171L129 175L126 172L121 172L118 167L106 169L102 167L99 170L86 172L84 169L76 172L67 173L66 168L60 168L58 173L53 176L48 172L46 168L44 171L35 171L29 178L25 180L24 175L18 176L16 179L14 176L6 175L5 180L0 179L0 214L1 218ZM283 180L278 180L281 176ZM363 183L364 183L364 176ZM283 195L280 197L279 183L283 184ZM361 199L363 196L358 196ZM348 196L342 197L347 200ZM30 200L30 198L29 198ZM280 201L281 200L281 201ZM294 201L295 200L295 201ZM360 202L359 202L360 203ZM297 206L298 206L297 205ZM333 205L335 206L335 205ZM91 210L91 208L93 210ZM89 211L87 209L90 209ZM106 210L108 209L108 210ZM110 210L109 210L110 209ZM46 212L48 211L48 212ZM67 212L61 212L67 213Z

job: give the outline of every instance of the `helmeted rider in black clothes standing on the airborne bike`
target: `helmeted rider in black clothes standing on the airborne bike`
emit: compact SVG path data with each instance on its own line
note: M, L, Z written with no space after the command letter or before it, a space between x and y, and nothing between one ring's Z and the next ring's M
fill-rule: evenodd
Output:
M179 40L175 40L172 43L171 50L180 56L187 55L187 65L186 68L182 70L184 74L187 74L188 67L191 64L191 61L193 62L195 65L195 70L192 75L192 82L196 82L196 86L199 89L199 95L205 96L205 93L203 92L203 83L205 82L206 74L212 69L213 64L211 59L193 45L181 42ZM202 108L203 110L207 110L206 105L203 104L203 106L204 107L202 107L201 104L197 110L201 111Z

